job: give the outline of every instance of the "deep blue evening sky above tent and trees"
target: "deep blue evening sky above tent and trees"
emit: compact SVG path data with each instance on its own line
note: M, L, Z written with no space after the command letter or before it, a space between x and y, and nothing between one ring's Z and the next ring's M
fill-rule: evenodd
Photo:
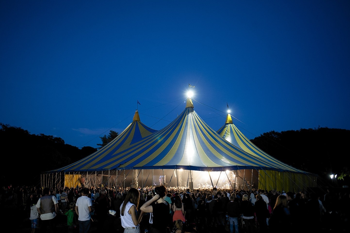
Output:
M0 1L0 122L93 146L188 83L211 128L350 129L350 1ZM141 105L137 105L137 100Z

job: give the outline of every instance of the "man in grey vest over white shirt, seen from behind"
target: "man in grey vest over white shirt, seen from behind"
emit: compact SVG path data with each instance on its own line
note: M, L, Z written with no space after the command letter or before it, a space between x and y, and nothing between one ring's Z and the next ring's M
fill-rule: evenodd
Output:
M50 228L51 232L55 232L55 217L58 211L58 201L55 195L50 195L50 189L45 188L43 190L43 197L41 197L37 204L36 208L40 214L40 219L42 220L41 231L49 232L47 228Z

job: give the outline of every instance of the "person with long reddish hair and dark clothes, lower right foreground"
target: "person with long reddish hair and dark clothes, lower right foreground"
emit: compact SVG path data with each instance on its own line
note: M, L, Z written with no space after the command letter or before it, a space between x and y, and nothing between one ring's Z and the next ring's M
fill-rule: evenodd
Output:
M268 221L269 232L292 232L288 200L284 195L279 195L273 207L271 217Z

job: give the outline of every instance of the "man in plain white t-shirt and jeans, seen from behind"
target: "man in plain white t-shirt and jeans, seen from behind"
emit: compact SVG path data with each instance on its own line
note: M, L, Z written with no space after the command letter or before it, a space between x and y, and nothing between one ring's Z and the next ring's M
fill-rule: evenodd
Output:
M87 197L90 193L90 190L84 188L80 192L82 196L77 199L77 203L75 204L75 212L78 215L79 232L87 233L91 227L90 212L93 211L91 199Z

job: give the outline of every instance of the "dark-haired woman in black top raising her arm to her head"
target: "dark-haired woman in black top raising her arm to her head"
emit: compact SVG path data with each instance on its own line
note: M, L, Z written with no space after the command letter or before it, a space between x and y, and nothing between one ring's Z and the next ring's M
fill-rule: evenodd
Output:
M166 233L169 222L169 203L164 200L167 189L164 185L153 190L152 199L146 201L140 208L145 213L152 213L151 233ZM152 205L154 202L155 205Z

